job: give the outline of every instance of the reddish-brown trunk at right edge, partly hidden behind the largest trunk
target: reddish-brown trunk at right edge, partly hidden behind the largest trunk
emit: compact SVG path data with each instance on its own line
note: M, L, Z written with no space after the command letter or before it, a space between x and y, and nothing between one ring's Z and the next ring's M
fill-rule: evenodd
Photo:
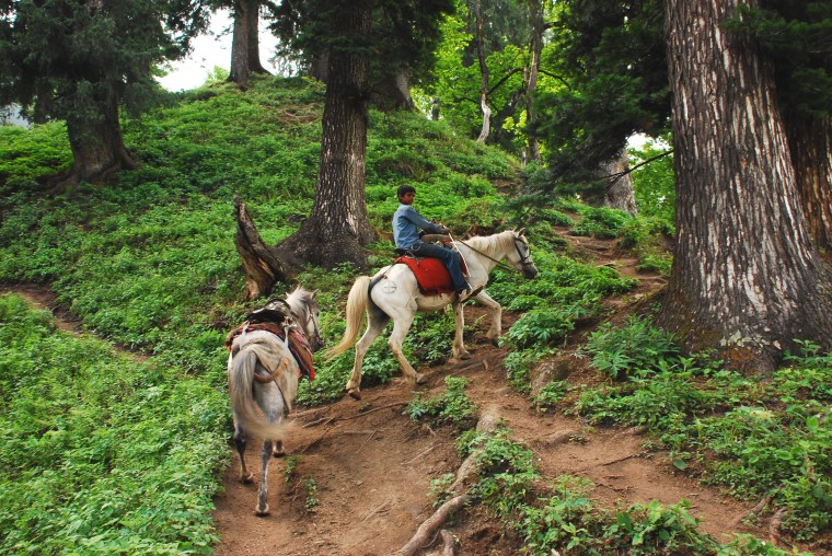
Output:
M787 115L797 189L814 245L832 252L832 116Z

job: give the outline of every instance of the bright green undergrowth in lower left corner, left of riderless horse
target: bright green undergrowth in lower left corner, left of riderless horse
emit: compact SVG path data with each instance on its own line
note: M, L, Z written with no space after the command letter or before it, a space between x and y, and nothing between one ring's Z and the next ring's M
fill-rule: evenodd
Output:
M209 554L221 392L0 297L0 552Z

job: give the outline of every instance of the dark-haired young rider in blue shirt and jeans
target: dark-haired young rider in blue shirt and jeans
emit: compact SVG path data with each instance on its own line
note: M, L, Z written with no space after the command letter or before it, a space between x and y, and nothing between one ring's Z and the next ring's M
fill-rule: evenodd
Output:
M472 292L471 285L462 276L459 254L432 243L425 243L419 235L419 229L427 233L442 235L448 235L451 231L443 225L435 224L413 208L416 188L412 185L400 186L396 196L400 202L393 215L393 240L396 247L417 257L431 257L441 260L451 275L453 289L457 291L459 301L465 301L472 296L476 296L478 291Z

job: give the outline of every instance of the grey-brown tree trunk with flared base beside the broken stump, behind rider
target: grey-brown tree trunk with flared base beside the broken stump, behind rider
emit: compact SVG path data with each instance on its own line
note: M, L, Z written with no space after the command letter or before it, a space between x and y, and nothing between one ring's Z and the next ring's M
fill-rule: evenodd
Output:
M370 3L345 2L337 22L346 39L369 34ZM312 263L332 268L350 262L365 268L363 246L375 240L365 196L369 60L355 49L333 50L328 58L321 167L312 215L278 245L278 251L293 265Z

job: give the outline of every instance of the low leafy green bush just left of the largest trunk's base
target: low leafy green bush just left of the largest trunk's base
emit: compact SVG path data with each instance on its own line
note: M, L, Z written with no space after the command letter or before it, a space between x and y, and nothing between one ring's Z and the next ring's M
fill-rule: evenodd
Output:
M637 371L658 371L678 361L679 346L671 334L644 318L631 317L626 326L606 323L592 332L582 351L592 364L613 380L624 380Z

